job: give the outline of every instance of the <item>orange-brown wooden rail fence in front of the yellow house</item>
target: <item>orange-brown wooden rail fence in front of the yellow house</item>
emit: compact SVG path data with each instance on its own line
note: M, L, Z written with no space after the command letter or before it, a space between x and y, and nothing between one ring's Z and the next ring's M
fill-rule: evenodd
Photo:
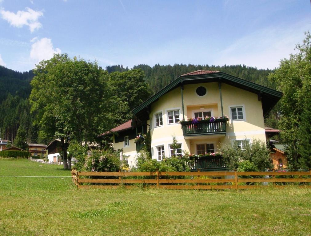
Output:
M267 186L269 182L272 182L275 187L282 187L282 185L276 183L294 182L298 183L299 186L310 188L311 185L307 183L311 183L311 170L305 172L238 172L236 170L210 172L200 172L200 170L197 172L80 172L72 170L72 180L77 188L82 189L118 188L119 186L133 188L137 187L137 184L143 184L148 188L165 189L246 189ZM262 183L262 185L258 183Z

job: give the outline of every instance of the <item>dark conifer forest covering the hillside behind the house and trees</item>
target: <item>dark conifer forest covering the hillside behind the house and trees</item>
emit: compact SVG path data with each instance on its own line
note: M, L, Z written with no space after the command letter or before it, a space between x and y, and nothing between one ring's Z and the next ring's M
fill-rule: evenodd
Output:
M144 81L149 85L149 93L152 95L165 87L167 84L178 78L180 75L195 70L218 70L230 75L247 79L269 88L276 88L276 85L267 78L273 70L258 70L255 67L245 65L214 66L214 65L186 65L174 64L160 65L153 67L148 65L137 65L133 69L141 69L144 74ZM107 66L108 73L125 72L130 69L123 65ZM18 72L0 66L0 138L13 141L20 125L26 129L26 138L29 143L38 141L38 127L33 124L35 114L30 114L29 95L31 92L30 81L34 77L32 70ZM118 78L118 77L116 77ZM129 114L123 114L128 119ZM276 112L272 111L272 118L266 120L268 125L276 127ZM123 119L121 119L123 120Z

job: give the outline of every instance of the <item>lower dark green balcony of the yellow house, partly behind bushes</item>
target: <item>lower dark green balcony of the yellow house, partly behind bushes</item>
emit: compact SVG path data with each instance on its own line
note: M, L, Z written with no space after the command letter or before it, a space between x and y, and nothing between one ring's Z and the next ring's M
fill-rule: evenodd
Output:
M222 157L201 157L200 159L194 159L193 163L189 163L191 171L221 171L227 170L227 166Z

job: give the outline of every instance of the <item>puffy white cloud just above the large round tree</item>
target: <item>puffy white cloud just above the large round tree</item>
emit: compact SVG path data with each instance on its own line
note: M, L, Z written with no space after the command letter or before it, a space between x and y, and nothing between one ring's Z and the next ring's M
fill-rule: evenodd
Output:
M42 60L48 60L53 57L54 53L61 53L59 48L54 49L51 39L37 37L31 39L33 44L31 45L30 58L38 63Z

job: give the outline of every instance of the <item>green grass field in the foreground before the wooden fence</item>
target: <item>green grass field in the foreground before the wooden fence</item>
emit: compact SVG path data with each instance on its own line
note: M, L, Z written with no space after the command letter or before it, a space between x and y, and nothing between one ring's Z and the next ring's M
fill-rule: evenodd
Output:
M0 160L0 175L70 172ZM70 178L0 177L0 235L311 235L311 189L77 190Z

